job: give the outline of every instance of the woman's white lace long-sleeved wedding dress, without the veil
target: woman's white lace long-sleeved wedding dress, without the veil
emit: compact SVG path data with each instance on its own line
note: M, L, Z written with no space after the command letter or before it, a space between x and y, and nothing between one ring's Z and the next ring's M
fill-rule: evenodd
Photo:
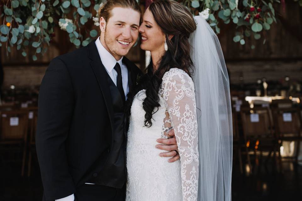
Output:
M178 68L165 73L151 127L144 126L145 97L145 90L138 92L131 106L126 201L196 201L199 154L193 80ZM174 163L155 148L156 139L171 126L180 155Z

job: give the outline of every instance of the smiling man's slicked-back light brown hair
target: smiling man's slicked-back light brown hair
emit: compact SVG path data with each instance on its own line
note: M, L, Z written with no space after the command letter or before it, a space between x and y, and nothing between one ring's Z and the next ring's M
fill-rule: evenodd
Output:
M103 6L101 6L101 8L98 9L99 19L103 17L107 23L111 17L111 10L115 7L132 8L140 14L142 13L142 10L136 0L108 0Z

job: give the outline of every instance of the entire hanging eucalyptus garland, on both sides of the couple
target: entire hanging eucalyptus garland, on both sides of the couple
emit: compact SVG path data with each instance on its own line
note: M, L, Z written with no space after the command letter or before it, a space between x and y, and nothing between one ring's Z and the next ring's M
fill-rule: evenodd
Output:
M0 5L0 46L7 52L17 50L27 56L26 46L36 48L36 54L43 54L55 37L53 30L60 27L69 34L70 42L76 47L87 46L98 36L98 22L93 22L100 5L106 0L7 0ZM302 0L294 0L302 6ZM142 1L140 1L142 2ZM264 32L277 23L274 5L278 0L182 0L193 15L202 15L216 32L220 24L236 24L234 42L241 45L250 37L259 40ZM238 5L239 2L239 5ZM177 17L177 16L175 16ZM97 18L95 18L97 19ZM97 20L96 20L97 21ZM94 27L95 26L95 27ZM264 40L263 43L265 43ZM251 46L254 49L254 45ZM37 57L32 55L32 59Z

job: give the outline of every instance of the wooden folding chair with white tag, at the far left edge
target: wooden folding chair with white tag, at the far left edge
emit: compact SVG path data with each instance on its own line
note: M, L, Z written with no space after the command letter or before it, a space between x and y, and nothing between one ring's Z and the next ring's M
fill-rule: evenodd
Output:
M23 176L27 145L28 113L26 111L1 111L0 114L0 147L3 152L21 150L23 155L21 175Z

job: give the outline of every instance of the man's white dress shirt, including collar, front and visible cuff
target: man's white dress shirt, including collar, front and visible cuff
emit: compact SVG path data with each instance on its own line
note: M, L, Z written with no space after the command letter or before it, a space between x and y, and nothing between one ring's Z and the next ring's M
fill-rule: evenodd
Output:
M127 94L129 93L129 85L128 85L128 69L126 65L122 62L123 57L116 61L115 58L108 52L105 47L102 45L100 41L100 37L95 41L95 45L97 46L98 49L98 54L100 55L100 58L102 60L102 63L109 74L110 78L114 82L116 86L116 79L117 79L117 72L115 71L114 67L116 62L120 64L120 69L122 73L122 82L123 82L123 90L125 92L125 97L127 100ZM101 68L101 66L100 66ZM93 183L85 183L85 184L93 184ZM74 201L75 196L74 194L67 196L65 198L57 199L55 201Z

